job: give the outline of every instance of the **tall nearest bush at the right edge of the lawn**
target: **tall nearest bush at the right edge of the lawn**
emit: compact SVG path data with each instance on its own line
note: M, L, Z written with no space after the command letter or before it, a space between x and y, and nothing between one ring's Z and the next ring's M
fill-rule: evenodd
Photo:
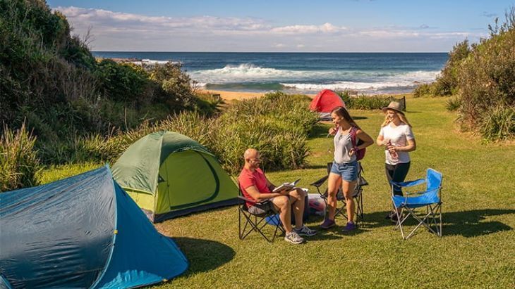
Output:
M460 66L461 121L486 140L513 136L509 128L515 108L515 8L506 22L490 27Z

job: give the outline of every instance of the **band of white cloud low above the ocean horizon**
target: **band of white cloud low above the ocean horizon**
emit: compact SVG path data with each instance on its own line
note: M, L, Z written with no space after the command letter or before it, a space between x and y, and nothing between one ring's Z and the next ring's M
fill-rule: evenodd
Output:
M147 16L73 6L54 9L66 15L74 33L85 35L92 27L95 50L449 51L465 37L471 41L485 37L477 32L421 30L427 25L375 29L332 23L277 26L260 18Z

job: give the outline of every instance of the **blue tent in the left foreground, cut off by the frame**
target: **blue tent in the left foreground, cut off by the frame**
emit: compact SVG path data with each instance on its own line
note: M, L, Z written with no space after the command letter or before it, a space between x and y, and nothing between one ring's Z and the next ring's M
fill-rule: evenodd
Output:
M107 166L0 193L0 288L134 288L187 268Z

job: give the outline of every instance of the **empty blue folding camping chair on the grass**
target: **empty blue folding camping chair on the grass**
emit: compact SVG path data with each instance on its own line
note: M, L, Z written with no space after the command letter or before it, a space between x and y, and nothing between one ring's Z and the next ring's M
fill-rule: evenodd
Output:
M405 196L394 195L394 188L408 188L426 184L425 191L414 193L404 192ZM401 230L402 238L405 240L413 235L420 226L425 226L432 233L442 237L442 199L440 198L442 190L442 173L434 169L428 169L425 179L417 179L415 181L404 181L396 183L390 181L392 184L392 202L397 214L397 223L395 229ZM425 212L420 212L420 208L425 207ZM400 210L400 212L399 212ZM406 214L404 214L406 212ZM415 229L404 236L403 225L408 217L413 217L418 221Z

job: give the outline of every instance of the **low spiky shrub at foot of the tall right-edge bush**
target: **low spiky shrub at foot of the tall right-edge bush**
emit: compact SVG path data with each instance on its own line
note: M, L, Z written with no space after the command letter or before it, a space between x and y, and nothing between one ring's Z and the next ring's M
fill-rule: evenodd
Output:
M515 108L497 106L482 115L480 132L489 140L504 140L515 135Z

